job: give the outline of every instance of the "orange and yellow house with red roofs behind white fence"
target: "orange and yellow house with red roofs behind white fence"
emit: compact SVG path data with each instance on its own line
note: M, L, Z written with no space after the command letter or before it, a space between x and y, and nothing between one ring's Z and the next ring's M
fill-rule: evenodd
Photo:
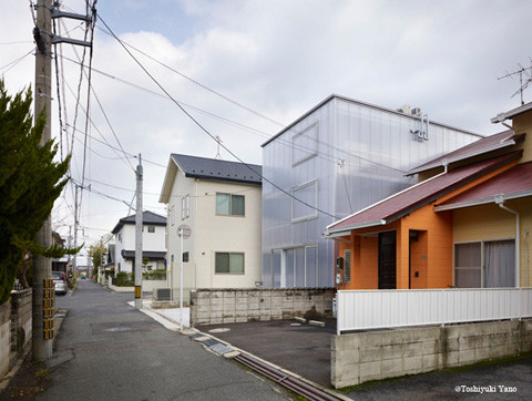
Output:
M505 131L412 169L423 179L326 227L339 289L528 287L532 103ZM514 124L515 125L515 124ZM340 260L339 260L340 259ZM532 280L532 277L530 277Z

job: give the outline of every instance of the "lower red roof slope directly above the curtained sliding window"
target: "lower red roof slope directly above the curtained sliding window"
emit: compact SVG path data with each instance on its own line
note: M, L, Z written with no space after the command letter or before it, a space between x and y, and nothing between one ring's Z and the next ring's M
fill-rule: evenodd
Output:
M511 199L532 196L532 162L518 164L504 173L457 195L438 208L451 209L495 202L495 196Z

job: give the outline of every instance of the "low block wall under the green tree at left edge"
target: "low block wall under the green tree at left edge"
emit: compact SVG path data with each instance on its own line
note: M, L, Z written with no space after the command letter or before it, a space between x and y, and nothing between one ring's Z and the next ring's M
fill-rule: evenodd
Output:
M32 290L12 291L0 305L0 380L31 347Z

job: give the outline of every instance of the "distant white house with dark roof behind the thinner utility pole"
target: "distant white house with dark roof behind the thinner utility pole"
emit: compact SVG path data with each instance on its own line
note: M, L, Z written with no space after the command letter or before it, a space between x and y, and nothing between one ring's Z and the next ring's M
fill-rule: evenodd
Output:
M142 219L142 256L150 259L149 266L152 266L152 269L164 269L166 217L143 212ZM132 273L135 266L135 215L121 218L112 233L115 237L115 273Z

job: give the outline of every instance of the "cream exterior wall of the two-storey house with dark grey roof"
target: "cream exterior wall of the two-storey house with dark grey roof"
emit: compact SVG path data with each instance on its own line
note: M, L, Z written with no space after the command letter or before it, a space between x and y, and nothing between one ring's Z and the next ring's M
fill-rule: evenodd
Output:
M216 216L216 193L245 196L245 216ZM190 196L188 217L182 218L182 198ZM180 237L185 224L192 229L183 240L184 288L249 288L262 277L260 225L262 189L259 186L187 178L178 171L168 200L167 260L173 287L180 287ZM172 217L172 207L174 217ZM245 274L215 274L216 251L238 251L245 256ZM173 261L172 261L173 256Z

